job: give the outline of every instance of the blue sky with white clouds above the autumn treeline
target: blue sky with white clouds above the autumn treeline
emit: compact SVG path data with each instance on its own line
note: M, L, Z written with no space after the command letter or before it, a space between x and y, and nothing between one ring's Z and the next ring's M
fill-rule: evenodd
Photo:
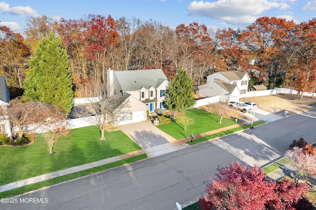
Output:
M95 14L158 21L172 28L193 22L207 27L244 28L258 17L275 16L297 23L316 17L316 0L5 0L0 25L23 33L27 16L59 20Z

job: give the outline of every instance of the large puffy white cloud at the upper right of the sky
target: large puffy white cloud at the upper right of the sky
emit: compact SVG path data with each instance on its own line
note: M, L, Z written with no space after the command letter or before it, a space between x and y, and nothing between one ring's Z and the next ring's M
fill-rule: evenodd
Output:
M278 3L273 0L217 0L192 1L188 5L191 15L204 16L217 20L224 20L228 24L247 26L253 23L264 11L278 8L281 10L289 8L285 0ZM290 0L292 1L292 0Z

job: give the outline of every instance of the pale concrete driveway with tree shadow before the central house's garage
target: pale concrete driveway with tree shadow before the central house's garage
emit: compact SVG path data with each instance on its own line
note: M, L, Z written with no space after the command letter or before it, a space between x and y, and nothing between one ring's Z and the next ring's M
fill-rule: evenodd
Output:
M125 133L143 149L176 141L176 139L147 121L121 125L118 126L118 129Z

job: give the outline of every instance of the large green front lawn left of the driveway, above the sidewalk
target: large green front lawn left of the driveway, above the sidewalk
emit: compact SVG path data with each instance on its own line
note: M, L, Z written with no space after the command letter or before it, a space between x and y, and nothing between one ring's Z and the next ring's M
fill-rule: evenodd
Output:
M60 137L53 155L42 134L31 145L0 147L0 185L142 149L121 131L105 132L105 137L99 140L96 126L73 129Z

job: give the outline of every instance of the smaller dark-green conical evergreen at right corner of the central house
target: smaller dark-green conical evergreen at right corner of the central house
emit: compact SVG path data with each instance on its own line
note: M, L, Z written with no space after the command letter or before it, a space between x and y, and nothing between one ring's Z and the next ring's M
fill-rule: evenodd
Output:
M165 106L171 111L180 111L195 105L192 85L188 73L179 69L166 90Z

